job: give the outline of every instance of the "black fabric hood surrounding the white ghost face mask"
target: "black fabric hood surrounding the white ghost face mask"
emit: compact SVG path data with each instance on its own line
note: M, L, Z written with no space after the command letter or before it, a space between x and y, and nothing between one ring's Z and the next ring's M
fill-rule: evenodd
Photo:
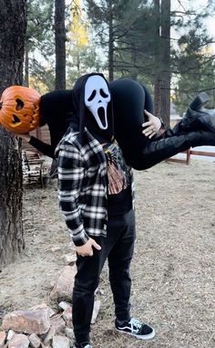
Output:
M77 124L79 126L80 142L82 142L83 140L85 127L87 127L88 132L90 132L94 136L94 138L97 139L98 142L109 142L114 134L112 98L107 105L107 124L108 124L107 130L101 130L98 127L97 121L95 120L94 116L87 109L85 105L86 82L90 76L95 76L95 75L98 75L101 78L105 79L103 74L98 74L98 73L86 74L81 76L79 79L77 79L75 86L73 88L73 106L74 106L75 117L71 124L74 125L76 128L77 128ZM107 82L107 79L105 80ZM108 82L107 82L107 87L109 90ZM110 90L109 90L109 93L110 93Z

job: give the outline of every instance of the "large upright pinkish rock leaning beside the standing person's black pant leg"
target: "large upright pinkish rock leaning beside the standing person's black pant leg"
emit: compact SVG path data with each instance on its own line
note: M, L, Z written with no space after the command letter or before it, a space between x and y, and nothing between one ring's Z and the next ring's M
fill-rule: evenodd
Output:
M56 286L50 293L51 300L70 301L72 297L74 278L77 273L77 267L66 266L56 281Z

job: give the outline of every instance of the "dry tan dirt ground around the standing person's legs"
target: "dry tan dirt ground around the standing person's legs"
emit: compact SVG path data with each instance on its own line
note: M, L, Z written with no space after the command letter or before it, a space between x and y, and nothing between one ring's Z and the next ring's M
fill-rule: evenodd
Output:
M135 181L132 314L150 323L157 335L145 343L115 332L105 268L93 346L215 347L215 163L160 163L135 172ZM70 251L69 237L56 185L54 180L44 189L25 189L26 251L0 275L0 305L5 311L50 303L50 290L65 266L62 257Z

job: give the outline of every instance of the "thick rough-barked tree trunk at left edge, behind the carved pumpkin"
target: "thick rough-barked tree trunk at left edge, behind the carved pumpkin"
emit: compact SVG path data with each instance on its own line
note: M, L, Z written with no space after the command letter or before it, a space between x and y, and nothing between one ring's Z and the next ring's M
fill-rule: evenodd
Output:
M0 0L0 93L22 83L26 0ZM25 248L21 146L0 126L0 268Z

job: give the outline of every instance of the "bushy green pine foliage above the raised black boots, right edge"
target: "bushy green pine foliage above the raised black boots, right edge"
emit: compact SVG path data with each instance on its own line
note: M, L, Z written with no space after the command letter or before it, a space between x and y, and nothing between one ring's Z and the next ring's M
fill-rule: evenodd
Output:
M175 58L178 88L173 98L181 116L190 100L200 91L206 91L211 102L215 101L215 61L209 43L207 33L199 36L195 29L179 39L179 51Z

